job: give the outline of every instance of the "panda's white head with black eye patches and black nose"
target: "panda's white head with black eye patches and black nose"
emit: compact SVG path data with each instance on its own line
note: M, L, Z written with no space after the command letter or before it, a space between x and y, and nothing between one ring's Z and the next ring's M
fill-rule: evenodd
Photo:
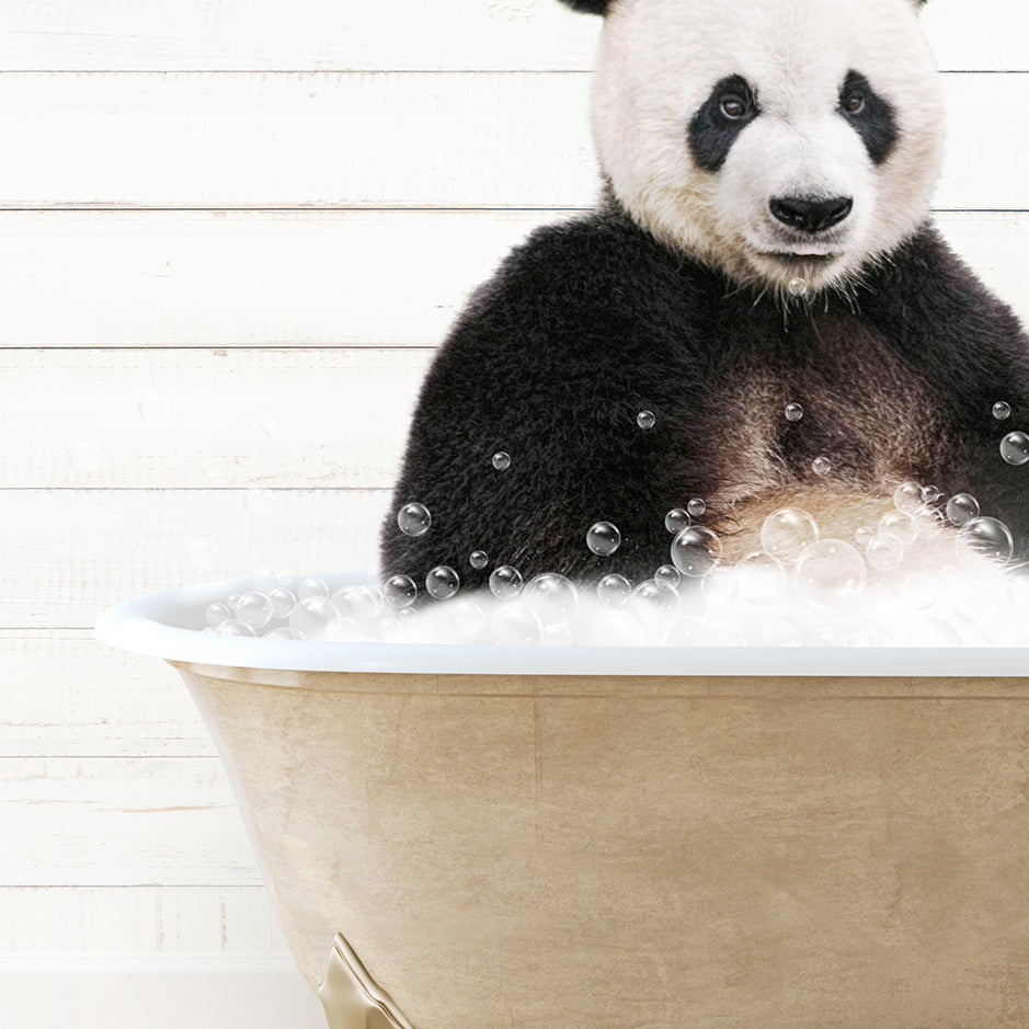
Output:
M740 283L844 286L924 220L924 0L564 0L605 15L593 121L632 217Z

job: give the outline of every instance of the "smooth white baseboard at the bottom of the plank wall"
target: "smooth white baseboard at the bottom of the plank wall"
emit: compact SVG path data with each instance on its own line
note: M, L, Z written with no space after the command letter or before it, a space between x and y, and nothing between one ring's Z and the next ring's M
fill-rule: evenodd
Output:
M0 957L4 1029L325 1029L288 959Z

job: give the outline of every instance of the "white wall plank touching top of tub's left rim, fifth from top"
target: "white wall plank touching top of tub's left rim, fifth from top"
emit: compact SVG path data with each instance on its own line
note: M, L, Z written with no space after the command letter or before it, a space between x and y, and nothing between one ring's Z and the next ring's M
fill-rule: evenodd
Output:
M151 590L220 582L267 565L290 573L377 563L382 490L8 490L0 628L92 627L104 608Z

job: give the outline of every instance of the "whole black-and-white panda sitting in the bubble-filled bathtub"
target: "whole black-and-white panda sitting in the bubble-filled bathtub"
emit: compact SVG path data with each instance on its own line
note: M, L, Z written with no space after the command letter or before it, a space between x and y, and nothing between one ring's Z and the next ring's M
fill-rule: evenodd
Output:
M604 18L603 195L516 248L438 352L384 573L640 582L682 508L732 561L778 508L851 539L911 481L937 522L974 496L1022 559L1029 466L999 446L1029 427L1029 341L930 220L921 3L563 2Z

